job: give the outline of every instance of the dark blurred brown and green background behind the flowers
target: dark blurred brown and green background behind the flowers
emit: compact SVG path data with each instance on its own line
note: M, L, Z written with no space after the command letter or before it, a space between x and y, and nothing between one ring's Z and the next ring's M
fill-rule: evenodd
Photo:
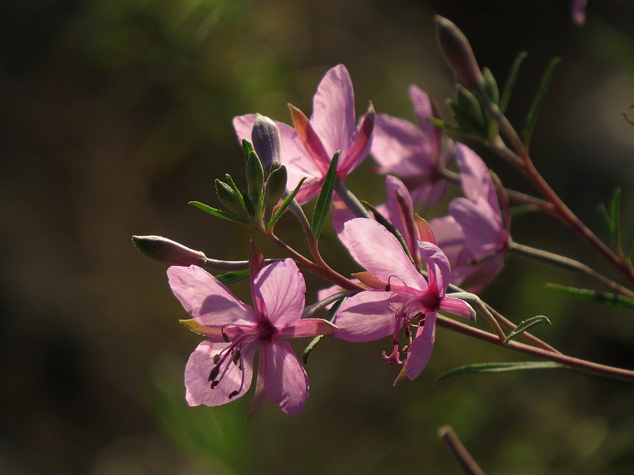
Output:
M526 360L443 329L428 369L397 388L396 369L380 358L388 341L328 339L311 355L311 396L298 417L266 403L244 420L250 395L187 407L182 372L200 338L178 323L185 312L165 266L130 236L246 258L249 232L187 205L218 205L213 180L225 172L244 179L232 118L290 122L288 102L310 113L325 71L344 63L358 113L372 100L414 120L409 84L440 103L454 90L435 13L464 30L499 82L528 51L509 107L520 128L549 59L561 56L535 163L593 229L616 186L631 222L634 127L621 116L634 102L630 0L590 0L582 28L569 0L1 3L1 473L458 474L436 436L445 424L487 473L633 473L634 386L561 371L434 385L458 365ZM482 155L506 186L530 191ZM348 184L380 203L371 173L368 159ZM444 213L440 205L429 216ZM619 278L549 217L517 217L512 232ZM304 249L292 220L279 234ZM342 272L356 270L330 230L322 247ZM307 281L311 302L324 284ZM484 298L516 322L550 317L535 333L564 353L634 367L632 312L580 305L545 281L594 285L511 257ZM248 301L244 282L232 289Z

